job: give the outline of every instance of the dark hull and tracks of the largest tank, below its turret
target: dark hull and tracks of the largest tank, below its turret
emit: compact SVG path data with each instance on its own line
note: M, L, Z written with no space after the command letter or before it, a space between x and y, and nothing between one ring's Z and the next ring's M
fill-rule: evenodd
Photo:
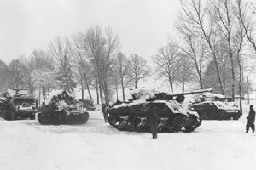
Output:
M149 119L156 113L159 117L158 133L192 132L201 125L201 119L196 112L184 108L174 112L169 104L176 109L182 107L174 101L116 105L107 109L108 122L121 131L150 132Z

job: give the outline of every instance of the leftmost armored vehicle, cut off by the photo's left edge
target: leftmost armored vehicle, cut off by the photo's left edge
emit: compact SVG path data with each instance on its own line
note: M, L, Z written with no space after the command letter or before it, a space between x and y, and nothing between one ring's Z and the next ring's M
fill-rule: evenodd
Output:
M0 100L0 116L9 121L27 118L35 119L35 114L38 112L37 99L24 94L16 92L12 96L9 93L5 93Z

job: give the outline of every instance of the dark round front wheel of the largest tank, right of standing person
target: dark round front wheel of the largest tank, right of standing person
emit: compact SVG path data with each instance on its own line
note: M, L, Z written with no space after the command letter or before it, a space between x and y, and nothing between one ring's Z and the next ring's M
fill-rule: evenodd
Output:
M182 130L185 125L186 117L182 115L177 115L172 118L170 122L168 122L167 129L169 133L176 133Z

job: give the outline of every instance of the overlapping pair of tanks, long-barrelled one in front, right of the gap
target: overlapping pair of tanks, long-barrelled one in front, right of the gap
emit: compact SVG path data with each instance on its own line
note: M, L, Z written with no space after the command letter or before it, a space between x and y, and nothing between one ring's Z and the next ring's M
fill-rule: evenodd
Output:
M159 115L158 132L192 132L202 120L238 120L240 109L224 101L224 96L211 99L212 89L196 90L189 93L166 94L157 90L134 90L129 102L117 102L108 106L108 122L121 131L149 131L149 119L154 113ZM203 93L203 94L202 94ZM200 100L184 105L185 95L202 94ZM175 99L174 99L175 98Z

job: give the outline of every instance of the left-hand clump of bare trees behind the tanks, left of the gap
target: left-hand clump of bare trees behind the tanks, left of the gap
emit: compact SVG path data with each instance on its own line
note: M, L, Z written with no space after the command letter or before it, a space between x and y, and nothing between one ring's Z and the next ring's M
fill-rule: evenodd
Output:
M138 82L149 73L143 57L126 57L120 52L119 37L111 28L100 26L70 37L55 37L46 50L35 50L9 65L1 61L0 70L1 89L26 88L31 95L39 90L45 97L54 88L70 92L80 88L82 99L86 90L90 100L91 90L96 90L97 104L114 100L119 88L125 100L125 88L138 88Z

